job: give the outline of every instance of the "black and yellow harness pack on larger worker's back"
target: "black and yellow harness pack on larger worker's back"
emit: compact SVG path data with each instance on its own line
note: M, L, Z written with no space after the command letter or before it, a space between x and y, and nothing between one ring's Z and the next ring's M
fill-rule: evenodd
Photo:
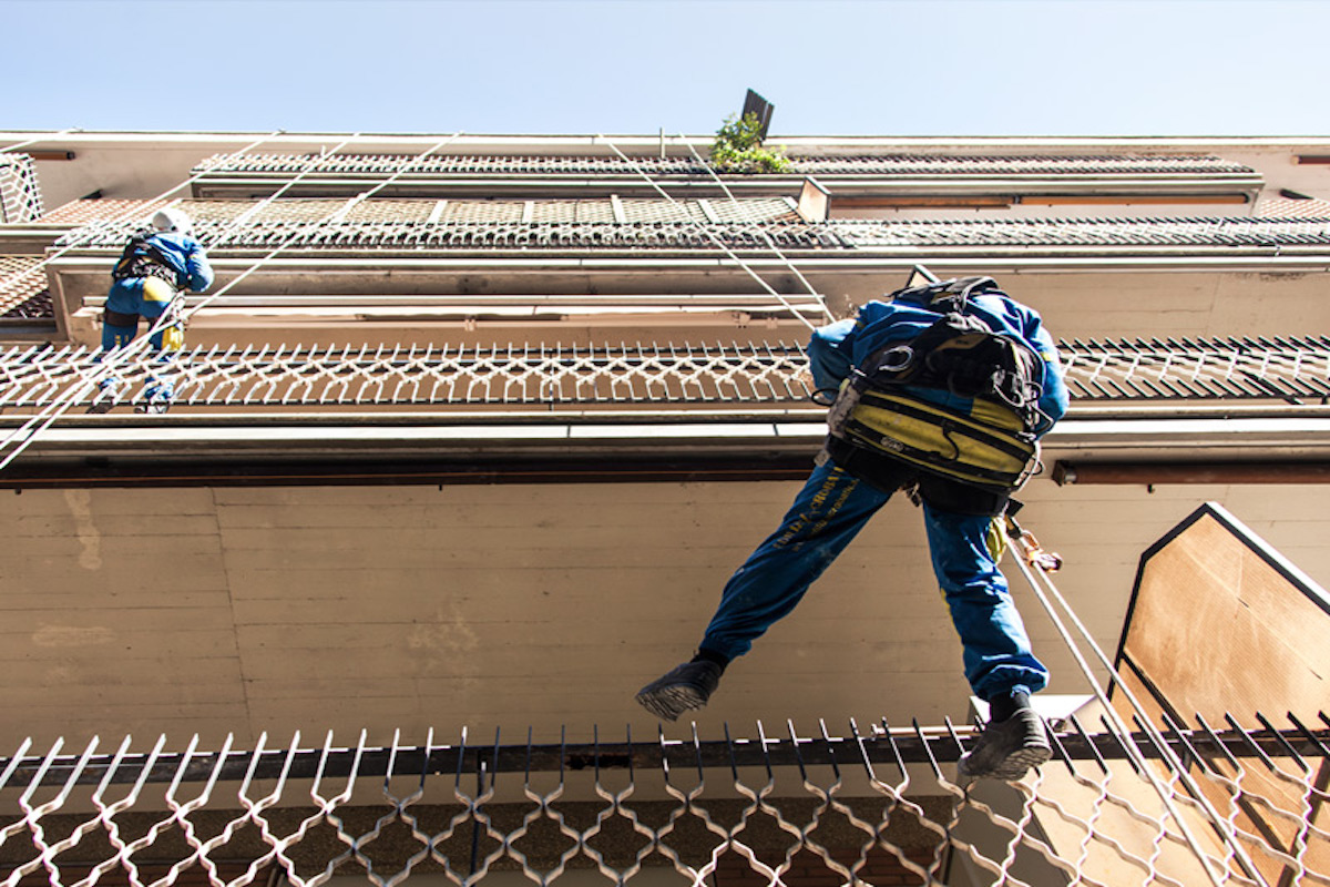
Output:
M1044 363L1016 336L994 331L966 309L971 295L999 294L992 278L943 281L892 294L940 317L914 339L887 346L855 367L827 415L829 451L861 464L874 459L1005 495L1039 467ZM963 412L914 390L971 399ZM850 448L847 451L847 448Z

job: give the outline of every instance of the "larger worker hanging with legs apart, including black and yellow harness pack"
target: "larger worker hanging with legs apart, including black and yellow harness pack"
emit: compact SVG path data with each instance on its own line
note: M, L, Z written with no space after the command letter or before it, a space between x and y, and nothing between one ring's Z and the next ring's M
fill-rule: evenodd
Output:
M637 701L673 721L706 705L725 668L787 616L896 489L923 508L932 568L990 721L960 761L966 779L1017 779L1051 754L1031 694L1048 672L1031 652L1007 581L1003 515L1037 468L1037 439L1067 411L1039 314L992 278L930 282L814 331L826 447L779 528L730 577L697 649Z

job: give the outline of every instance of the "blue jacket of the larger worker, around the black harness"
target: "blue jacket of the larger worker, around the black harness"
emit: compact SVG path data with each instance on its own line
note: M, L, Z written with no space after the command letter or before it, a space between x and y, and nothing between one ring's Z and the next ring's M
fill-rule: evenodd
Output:
M1009 334L1044 359L1040 411L1048 422L1033 431L1044 435L1067 412L1067 384L1063 382L1057 346L1033 309L994 293L972 295L966 314L988 324L994 332ZM818 388L838 388L853 367L862 366L883 347L907 342L927 330L940 315L914 302L874 299L854 319L819 327L809 342L809 364ZM972 399L932 388L910 388L911 394L943 407L968 414Z

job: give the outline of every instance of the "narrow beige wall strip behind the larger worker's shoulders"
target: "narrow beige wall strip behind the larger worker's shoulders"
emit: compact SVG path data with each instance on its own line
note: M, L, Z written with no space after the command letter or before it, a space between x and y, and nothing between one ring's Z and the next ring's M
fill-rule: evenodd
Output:
M1330 302L1326 299L1326 275L1295 271L1165 271L1133 270L1049 273L1003 270L1001 266L936 265L944 277L958 274L991 274L1012 297L1037 309L1055 336L1072 338L1125 338L1125 336L1229 336L1229 335L1306 335L1317 334L1330 324ZM838 317L853 315L857 306L868 299L904 286L908 265L899 269L879 269L875 273L810 273L810 281L827 298L827 305ZM487 275L479 275L487 278ZM625 275L585 277L573 289L595 290L602 294L674 291L753 293L755 285L745 275L729 277L725 283L705 283L686 279L665 287L658 269L641 281ZM313 279L313 278L311 278ZM355 278L359 283L343 283L342 293L379 291L379 283L366 273ZM428 282L424 289L435 293L460 291L452 278L422 275ZM520 287L495 285L493 291L539 293L553 291L553 278L533 277ZM766 275L785 293L803 294L807 290L771 271ZM222 286L225 279L218 283ZM88 271L81 275L60 275L60 285L68 285L70 305L85 305L73 318L72 336L85 344L98 342L101 301L105 294L105 273ZM255 283L257 291L266 286ZM568 281L561 278L559 291L567 291ZM215 287L214 287L215 290ZM271 290L262 290L271 291ZM327 291L327 290L325 290ZM368 297L367 297L368 298ZM86 303L84 299L88 299ZM484 298L477 297L477 305ZM747 305L751 310L751 305ZM625 315L605 314L580 317L571 320L523 319L479 320L464 324L460 320L428 320L411 307L400 307L399 317L382 317L374 323L358 318L355 310L336 313L310 313L287 309L281 313L225 309L206 311L190 326L190 344L235 343L340 343L355 342L370 347L379 344L473 344L473 343L602 343L618 340L688 340L717 342L769 340L802 343L807 328L794 319L767 322L762 318L738 324L734 311L694 315ZM424 311L420 313L426 314ZM819 319L814 318L821 322Z

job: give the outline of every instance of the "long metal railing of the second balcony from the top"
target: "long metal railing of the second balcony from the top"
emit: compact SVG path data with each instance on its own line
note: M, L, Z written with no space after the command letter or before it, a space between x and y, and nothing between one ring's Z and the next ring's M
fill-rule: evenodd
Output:
M426 201L430 202L430 201ZM685 221L664 201L624 201L626 225L575 221L531 222L523 202L455 202L435 222L387 219L374 202L358 209L364 221L314 221L342 201L278 201L251 222L222 233L226 225L192 202L198 237L210 249L271 249L285 242L293 225L307 225L297 249L404 247L404 249L705 249L717 238L734 249L770 249L770 237L782 249L894 249L894 247L1264 247L1330 246L1330 219L1306 218L1198 218L1198 219L983 219L983 221L838 221L821 225L790 222L787 205L773 202L769 221L706 222L690 202ZM432 211L432 206L431 206ZM755 210L759 214L765 210ZM114 250L133 225L72 231L61 245Z

